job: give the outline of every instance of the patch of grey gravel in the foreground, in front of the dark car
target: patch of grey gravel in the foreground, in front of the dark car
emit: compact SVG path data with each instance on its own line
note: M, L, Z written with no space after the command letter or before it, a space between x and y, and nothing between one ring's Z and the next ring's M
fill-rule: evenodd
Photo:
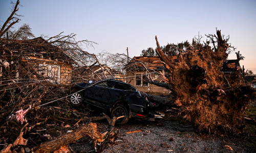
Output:
M118 127L117 127L118 128ZM125 134L129 131L142 132ZM161 121L158 124L133 122L119 126L118 141L103 152L223 152L221 140L205 140L186 124ZM166 143L166 148L162 147Z

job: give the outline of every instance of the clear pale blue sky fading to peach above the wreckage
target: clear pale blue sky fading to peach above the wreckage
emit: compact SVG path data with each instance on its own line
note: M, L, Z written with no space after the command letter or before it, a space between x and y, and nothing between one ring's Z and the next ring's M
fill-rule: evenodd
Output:
M11 13L11 1L0 0L0 25ZM61 32L76 34L77 40L98 44L89 53L140 56L143 49L167 43L192 41L198 33L216 34L216 28L230 37L229 42L245 57L240 65L256 73L256 1L67 1L20 0L23 15L15 27L30 25L36 37ZM233 52L228 59L236 59Z

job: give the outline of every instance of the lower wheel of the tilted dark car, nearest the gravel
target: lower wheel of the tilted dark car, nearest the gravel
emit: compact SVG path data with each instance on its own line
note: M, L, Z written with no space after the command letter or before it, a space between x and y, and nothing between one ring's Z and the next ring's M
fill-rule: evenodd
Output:
M111 113L111 116L112 116L112 118L113 118L113 117L124 116L124 117L122 117L122 118L119 118L119 119L116 121L117 124L125 124L125 123L127 123L127 121L129 120L129 118L128 118L128 111L127 111L126 107L123 106L123 105L117 105L117 106L113 109L113 111L112 111L112 113Z

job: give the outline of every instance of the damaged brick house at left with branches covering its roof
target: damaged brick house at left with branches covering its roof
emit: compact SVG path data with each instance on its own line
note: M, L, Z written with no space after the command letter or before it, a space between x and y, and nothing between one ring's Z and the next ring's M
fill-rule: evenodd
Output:
M47 80L54 84L71 83L75 63L60 47L38 37L30 40L0 39L0 77L15 70L15 78ZM8 63L6 66L5 63Z

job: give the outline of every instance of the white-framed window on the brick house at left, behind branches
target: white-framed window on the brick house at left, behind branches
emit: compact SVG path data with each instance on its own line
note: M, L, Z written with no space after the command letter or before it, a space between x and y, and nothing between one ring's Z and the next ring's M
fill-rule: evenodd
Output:
M39 64L38 73L49 79L51 83L60 83L60 67L58 65Z

